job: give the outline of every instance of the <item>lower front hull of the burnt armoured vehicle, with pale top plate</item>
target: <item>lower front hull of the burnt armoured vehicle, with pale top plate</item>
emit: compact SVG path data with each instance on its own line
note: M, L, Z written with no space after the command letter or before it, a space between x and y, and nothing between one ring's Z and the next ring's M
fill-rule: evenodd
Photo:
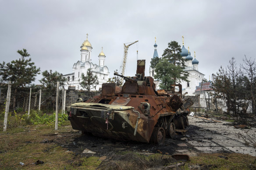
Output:
M155 124L154 120L139 115L138 112L133 111L132 107L115 105L115 108L111 108L108 104L100 104L101 107L97 107L99 106L97 103L89 105L87 103L81 103L79 106L71 105L72 108L76 108L76 113L71 111L69 118L72 128L106 138L149 142ZM102 111L104 113L111 111L111 113L106 118L105 114L101 114Z

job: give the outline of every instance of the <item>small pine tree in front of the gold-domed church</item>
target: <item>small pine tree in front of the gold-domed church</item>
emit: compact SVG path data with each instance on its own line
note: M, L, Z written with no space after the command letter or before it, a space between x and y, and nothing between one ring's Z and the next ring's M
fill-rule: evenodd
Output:
M93 88L96 89L96 86L99 84L97 75L92 74L92 69L87 70L86 76L82 73L82 81L80 83L81 87L85 89L89 97L92 97L90 90Z

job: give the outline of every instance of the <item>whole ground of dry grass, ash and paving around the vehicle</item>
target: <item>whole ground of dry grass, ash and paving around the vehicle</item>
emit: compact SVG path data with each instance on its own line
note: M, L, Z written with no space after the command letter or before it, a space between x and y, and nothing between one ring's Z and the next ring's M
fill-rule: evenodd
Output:
M164 170L174 154L187 154L190 157L190 161L178 167L182 170L256 168L256 150L252 143L238 138L240 133L256 141L256 128L237 129L228 121L214 122L191 116L188 119L190 125L186 128L187 132L177 133L175 140L166 138L164 145L83 135L72 129L69 121L59 130L46 125L7 129L7 132L0 133L0 169L94 170L103 166L100 169L105 170L104 163L108 169L113 165L120 167L121 164L117 163L123 163L124 167L129 164L130 167L126 169L150 167L151 170ZM127 159L134 162L127 164ZM146 168L134 165L138 163L137 160L143 159L146 162L142 165ZM39 160L44 163L37 165ZM20 162L24 165L20 165ZM146 166L146 163L152 162L152 165Z

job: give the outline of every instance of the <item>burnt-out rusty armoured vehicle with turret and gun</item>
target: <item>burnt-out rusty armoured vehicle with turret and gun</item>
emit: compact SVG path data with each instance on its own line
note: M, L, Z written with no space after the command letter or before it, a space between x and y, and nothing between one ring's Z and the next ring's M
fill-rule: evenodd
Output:
M145 60L138 60L135 76L114 73L126 80L122 87L103 83L99 96L68 106L72 128L118 140L163 144L166 135L174 139L175 128L188 125L193 102L182 99L180 84L171 92L157 92L153 78L144 72Z

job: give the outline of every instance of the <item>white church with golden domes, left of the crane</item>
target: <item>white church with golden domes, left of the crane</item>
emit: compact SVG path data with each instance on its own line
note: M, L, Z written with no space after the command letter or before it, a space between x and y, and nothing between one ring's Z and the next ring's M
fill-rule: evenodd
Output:
M92 69L92 74L98 77L99 84L94 90L99 90L103 83L107 83L109 79L109 72L107 66L105 66L105 54L103 48L98 56L99 65L93 64L92 60L95 61L96 57L92 57L92 45L88 41L88 34L86 40L82 43L80 47L81 56L80 59L73 64L72 73L63 75L66 78L65 89L73 88L76 90L83 90L80 82L82 81L82 73L86 76L87 69Z

